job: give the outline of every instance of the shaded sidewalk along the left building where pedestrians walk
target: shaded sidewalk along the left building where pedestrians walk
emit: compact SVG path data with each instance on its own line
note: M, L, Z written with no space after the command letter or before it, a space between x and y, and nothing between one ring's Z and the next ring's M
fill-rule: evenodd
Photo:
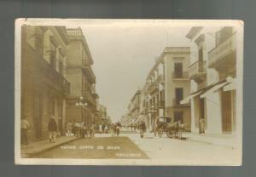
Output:
M75 136L61 136L56 139L55 143L49 143L49 140L39 140L36 142L32 142L26 146L20 147L21 157L32 157L35 154L48 151L55 148L56 146L61 146L62 144L77 139L78 138Z

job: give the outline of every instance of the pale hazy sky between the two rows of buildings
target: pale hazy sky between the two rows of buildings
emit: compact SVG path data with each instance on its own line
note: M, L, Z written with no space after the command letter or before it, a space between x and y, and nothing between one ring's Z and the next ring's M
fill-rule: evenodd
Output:
M94 60L96 93L112 121L117 122L166 46L189 46L185 35L191 27L97 23L81 28Z

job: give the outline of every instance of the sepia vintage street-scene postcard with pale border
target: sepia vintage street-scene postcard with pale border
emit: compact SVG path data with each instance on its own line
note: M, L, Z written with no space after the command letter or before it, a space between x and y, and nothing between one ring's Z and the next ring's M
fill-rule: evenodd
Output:
M15 164L241 165L241 20L15 21Z

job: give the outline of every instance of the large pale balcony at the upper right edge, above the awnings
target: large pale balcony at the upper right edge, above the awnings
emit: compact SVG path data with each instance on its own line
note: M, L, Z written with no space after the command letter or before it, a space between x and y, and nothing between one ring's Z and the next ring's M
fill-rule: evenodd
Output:
M236 68L236 33L209 52L208 67L217 71Z

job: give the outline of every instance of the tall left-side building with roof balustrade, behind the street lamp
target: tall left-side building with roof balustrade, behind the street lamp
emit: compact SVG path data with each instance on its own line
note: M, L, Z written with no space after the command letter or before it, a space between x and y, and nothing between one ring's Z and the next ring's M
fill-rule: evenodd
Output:
M96 118L96 77L91 66L93 60L81 28L67 29L67 81L70 95L67 98L68 121L83 120L93 123Z

